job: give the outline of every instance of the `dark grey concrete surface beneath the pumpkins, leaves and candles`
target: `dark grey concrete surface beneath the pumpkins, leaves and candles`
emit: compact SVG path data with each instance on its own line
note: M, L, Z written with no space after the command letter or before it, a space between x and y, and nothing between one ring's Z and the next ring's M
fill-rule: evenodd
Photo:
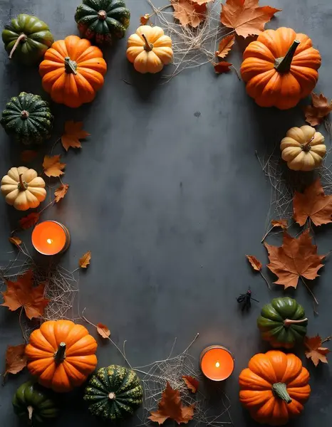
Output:
M130 33L150 8L145 0L127 3L132 11ZM155 0L155 4L162 6L165 1ZM262 4L284 9L268 28L291 26L311 36L323 58L317 91L331 97L331 0ZM49 23L55 39L61 39L77 33L73 20L77 5L78 0L0 0L1 23L22 12L36 14ZM216 77L209 65L160 85L155 77L133 72L125 47L126 39L106 53L108 73L95 102L78 110L52 104L54 137L60 135L63 121L70 119L83 120L91 137L81 151L63 152L68 165L65 181L71 187L66 199L44 218L57 219L71 231L71 248L63 257L68 268L76 268L78 258L92 251L90 268L80 278L81 308L87 307L91 321L109 325L119 345L127 339L133 365L166 357L175 337L175 350L180 352L199 332L192 347L197 357L208 344L224 344L236 360L234 374L224 386L232 401L234 425L254 426L239 404L237 378L254 353L268 348L256 329L261 305L283 295L281 287L269 292L244 258L252 253L267 260L260 240L270 187L254 152L271 152L289 127L304 125L301 109L261 109L234 73ZM239 49L229 59L239 68ZM0 61L1 108L21 90L43 94L36 69L10 63L2 49ZM199 117L195 112L201 113ZM19 151L2 130L0 140L3 175L19 166ZM56 152L62 152L61 147ZM10 256L6 252L11 251L7 237L20 215L3 200L0 215L4 263ZM30 233L23 236L28 241ZM279 237L269 241L280 243ZM329 226L317 232L320 253L331 249L331 237ZM289 292L306 308L311 335L318 332L325 337L332 332L329 264L316 281L321 302L318 317L313 317L311 297L301 285ZM235 298L249 286L260 303L242 315ZM4 364L6 345L21 342L18 314L1 308L0 328ZM123 363L108 344L100 344L98 359L100 367ZM304 415L291 426L331 426L331 370L304 364L311 372L311 399ZM0 387L1 426L19 425L11 396L26 377L11 376ZM209 393L213 394L212 389ZM63 406L56 427L101 425L76 395L63 399ZM219 413L219 408L214 411ZM135 423L137 419L127 424Z

